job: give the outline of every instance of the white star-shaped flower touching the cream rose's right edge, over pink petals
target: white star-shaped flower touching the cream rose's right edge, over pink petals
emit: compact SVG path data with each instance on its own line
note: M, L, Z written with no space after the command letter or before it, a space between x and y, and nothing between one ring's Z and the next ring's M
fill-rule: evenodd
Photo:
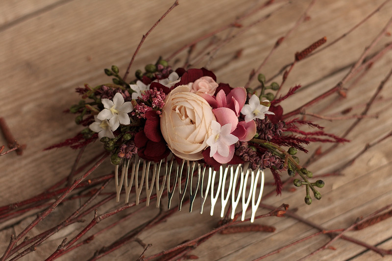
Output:
M238 142L238 138L230 134L231 123L221 126L218 121L211 121L212 134L208 137L206 143L210 146L210 157L218 152L222 157L229 156L229 146Z

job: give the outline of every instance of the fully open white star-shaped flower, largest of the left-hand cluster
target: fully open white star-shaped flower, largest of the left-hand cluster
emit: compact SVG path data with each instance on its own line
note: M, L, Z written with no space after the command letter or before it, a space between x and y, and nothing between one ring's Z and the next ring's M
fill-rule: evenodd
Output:
M128 125L131 123L128 113L133 110L133 105L130 101L124 102L123 95L117 93L113 97L113 101L109 99L102 99L102 104L105 107L98 115L100 120L108 119L112 131L115 131L120 124Z

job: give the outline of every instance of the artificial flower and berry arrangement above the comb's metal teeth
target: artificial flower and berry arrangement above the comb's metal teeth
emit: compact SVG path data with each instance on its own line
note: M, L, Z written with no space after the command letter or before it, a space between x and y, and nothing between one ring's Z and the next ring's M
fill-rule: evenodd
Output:
M215 169L226 164L247 164L253 170L269 168L277 194L282 188L279 172L287 171L302 178L294 179L294 185L306 186L307 204L312 203L310 190L316 199L321 198L316 187L322 188L324 182L311 183L312 172L300 166L294 155L297 150L307 152L304 145L310 142L345 140L324 133L311 121L282 119L279 103L300 86L275 98L266 90L277 91L279 85L272 82L266 86L263 74L258 75L256 89L261 92L257 93L218 83L215 74L205 68L173 70L162 59L147 65L144 72L136 71L136 79L130 83L119 76L116 66L105 73L114 76L113 83L77 88L82 100L68 110L85 129L47 149L76 149L98 139L111 153L116 170L135 155L150 162L172 157L177 162L197 161ZM300 125L319 130L305 132Z

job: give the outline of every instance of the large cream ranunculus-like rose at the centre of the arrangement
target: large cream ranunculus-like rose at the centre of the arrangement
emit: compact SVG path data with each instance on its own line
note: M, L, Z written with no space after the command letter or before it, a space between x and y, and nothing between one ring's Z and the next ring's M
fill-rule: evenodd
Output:
M178 86L166 96L160 117L163 138L173 154L191 161L203 158L215 120L205 99L190 93L186 85Z

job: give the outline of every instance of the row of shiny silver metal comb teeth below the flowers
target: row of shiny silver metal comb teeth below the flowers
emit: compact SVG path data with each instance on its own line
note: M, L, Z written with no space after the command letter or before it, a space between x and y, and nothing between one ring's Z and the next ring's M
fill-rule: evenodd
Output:
M250 184L248 184L249 180ZM222 165L219 170L214 170L195 161L183 161L178 164L174 159L171 159L161 160L159 163L155 163L133 157L131 160L123 161L120 175L119 166L116 166L115 181L117 202L120 201L121 190L124 187L125 203L128 203L129 193L134 183L136 205L139 204L140 195L144 187L147 197L146 205L148 206L155 185L157 195L156 207L159 208L166 185L168 209L171 208L172 198L177 190L178 210L180 211L182 209L182 202L188 191L190 202L189 212L192 212L196 194L199 190L200 214L203 213L204 204L210 198L210 215L213 215L215 206L220 198L220 213L221 217L223 217L224 210L230 204L229 201L231 198L230 217L233 219L240 199L242 199L241 219L245 219L246 210L250 208L252 211L250 222L253 222L263 194L264 171L262 169L252 170L249 168L248 163L244 165ZM144 184L145 186L143 186ZM258 186L260 188L258 194L256 194Z

